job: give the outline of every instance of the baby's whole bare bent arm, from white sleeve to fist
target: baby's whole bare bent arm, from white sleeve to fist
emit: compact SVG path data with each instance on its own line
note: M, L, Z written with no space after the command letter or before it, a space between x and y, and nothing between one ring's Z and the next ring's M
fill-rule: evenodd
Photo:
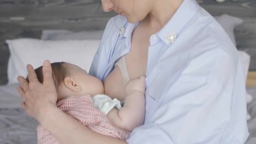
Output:
M125 86L125 104L120 109L112 109L107 117L113 125L126 131L143 124L145 113L145 77L130 80Z

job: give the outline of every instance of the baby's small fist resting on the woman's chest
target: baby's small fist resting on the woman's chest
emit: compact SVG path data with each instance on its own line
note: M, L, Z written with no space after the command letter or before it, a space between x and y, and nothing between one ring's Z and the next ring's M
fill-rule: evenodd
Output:
M145 93L145 77L138 77L130 80L125 86L125 93L128 95L133 91Z

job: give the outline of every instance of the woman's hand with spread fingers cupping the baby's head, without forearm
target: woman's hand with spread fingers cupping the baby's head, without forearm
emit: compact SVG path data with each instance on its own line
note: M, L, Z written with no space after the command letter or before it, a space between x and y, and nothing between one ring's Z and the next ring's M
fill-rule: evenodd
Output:
M27 72L29 82L24 77L18 77L20 86L17 89L23 99L21 107L28 115L42 123L44 115L52 107L56 107L57 101L51 63L48 60L43 63L43 84L38 81L35 70L30 64L27 65Z

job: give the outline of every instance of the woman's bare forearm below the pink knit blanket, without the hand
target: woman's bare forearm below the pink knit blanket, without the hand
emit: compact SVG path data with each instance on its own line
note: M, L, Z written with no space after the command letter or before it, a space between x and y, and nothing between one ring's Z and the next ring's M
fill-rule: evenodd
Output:
M57 107L48 110L40 124L61 144L126 144L126 141L92 131Z

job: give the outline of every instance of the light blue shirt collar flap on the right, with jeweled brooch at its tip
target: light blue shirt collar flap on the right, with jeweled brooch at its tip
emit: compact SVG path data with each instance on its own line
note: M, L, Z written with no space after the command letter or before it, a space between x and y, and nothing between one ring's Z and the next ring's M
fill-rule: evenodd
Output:
M175 34L178 39L182 30L192 17L195 16L198 9L199 5L195 0L184 0L170 21L156 33L157 36L160 37L166 45L171 45L171 43L166 41L167 35L170 33L172 33L172 35Z

